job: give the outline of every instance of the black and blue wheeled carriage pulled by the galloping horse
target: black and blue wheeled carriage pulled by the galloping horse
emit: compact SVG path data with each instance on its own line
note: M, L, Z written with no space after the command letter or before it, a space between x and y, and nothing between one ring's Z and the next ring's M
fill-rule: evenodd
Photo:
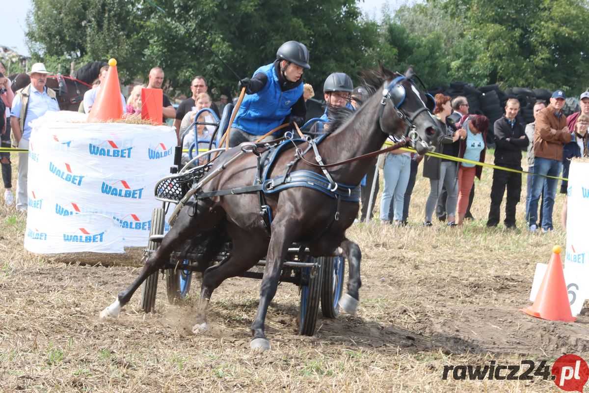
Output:
M163 239L166 230L166 214L170 207L178 204L181 198L186 195L193 184L208 173L212 163L210 162L213 154L223 154L224 148L215 148L219 146L221 138L229 128L229 118L233 111L233 104L227 104L224 107L221 119L209 108L203 108L195 115L193 123L186 128L181 136L180 146L174 151L174 166L170 168L170 176L161 179L155 186L155 198L162 202L162 207L154 209L151 217L151 230L145 257L157 250ZM201 114L210 115L213 123L207 121L198 121ZM312 118L307 121L303 130L310 125L320 121ZM200 149L199 141L196 136L197 126L214 127L213 136L208 140L208 148ZM194 143L188 148L190 161L183 164L181 162L181 146L185 146L184 140L188 134L194 133ZM202 146L203 142L200 142ZM206 161L199 164L202 161ZM227 257L231 250L229 242L221 247L220 252L214 257L214 263L220 263ZM166 277L166 292L168 302L182 302L188 295L193 279L202 275L203 269L208 266L201 266L197 260L204 252L202 247L193 247L187 250L186 247L173 252L170 260L162 267L161 272ZM250 279L262 279L263 272L261 267L266 265L266 259L260 259L256 266L247 270L240 276ZM288 250L286 261L284 262L280 282L293 283L299 287L300 306L299 306L299 332L302 335L312 336L315 333L315 326L319 308L325 318L337 318L339 314L339 299L343 292L343 279L345 273L345 257L341 255L332 255L324 257L309 256L309 249L301 244L293 243ZM141 288L140 307L144 312L151 312L154 308L155 296L157 291L159 272L153 273L144 281ZM320 305L320 307L319 307Z

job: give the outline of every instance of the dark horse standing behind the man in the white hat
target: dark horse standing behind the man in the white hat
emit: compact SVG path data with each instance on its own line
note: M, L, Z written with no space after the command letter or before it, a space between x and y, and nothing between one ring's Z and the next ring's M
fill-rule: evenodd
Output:
M31 83L27 74L12 74L8 78L12 81L12 90L15 92ZM68 75L49 75L46 85L57 94L59 109L62 111L78 111L84 100L84 93L92 88L91 84Z

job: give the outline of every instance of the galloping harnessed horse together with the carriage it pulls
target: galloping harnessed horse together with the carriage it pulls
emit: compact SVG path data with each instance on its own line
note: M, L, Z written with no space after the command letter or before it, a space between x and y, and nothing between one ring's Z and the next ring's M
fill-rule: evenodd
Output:
M163 207L154 212L143 270L100 318L117 318L142 285L141 306L150 311L160 269L167 272L173 301L186 296L195 272L203 272L195 334L209 329L210 298L223 280L262 278L251 328L250 348L256 350L270 349L265 319L281 280L300 288L303 334L315 331L319 303L328 318L337 316L339 308L355 315L362 253L345 232L358 216L358 184L378 154L405 144L423 154L433 150L441 134L431 114L433 97L419 90L416 81L421 79L412 67L399 74L379 65L364 72L363 79L363 104L353 113L336 111L330 132L317 138L285 133L286 139L276 143L211 149L191 160L194 167L190 162L181 166L177 147L173 173L155 187ZM230 110L215 124L219 146L236 113L226 122ZM402 142L379 150L391 135L403 137ZM211 158L203 162L204 157ZM173 204L164 235L166 210ZM262 266L263 274L255 270Z

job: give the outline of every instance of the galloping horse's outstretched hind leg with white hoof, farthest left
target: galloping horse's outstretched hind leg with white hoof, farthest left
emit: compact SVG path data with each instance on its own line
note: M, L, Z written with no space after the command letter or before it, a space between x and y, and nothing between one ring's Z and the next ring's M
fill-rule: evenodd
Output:
M198 224L206 222L207 227L213 227L220 221L221 217L223 217L222 211L217 210L217 212L214 212L210 209L210 206L207 206L205 203L197 203L196 213L193 216L190 216L190 214L188 214L188 209L192 208L193 204L184 206L181 210L181 213L183 214L178 216L178 219L176 220L176 223L174 223L174 226L171 227L170 232L168 232L161 240L160 247L147 258L143 270L141 270L137 279L135 279L130 286L121 290L117 296L117 300L102 310L100 313L100 319L117 318L121 311L121 307L131 300L131 296L133 296L135 290L139 288L145 279L157 272L158 269L161 269L161 267L166 264L166 261L170 260L170 255L176 247L186 241L188 237L197 233L198 230L203 229L202 227L199 228ZM206 217L207 213L213 214L210 214L210 217Z

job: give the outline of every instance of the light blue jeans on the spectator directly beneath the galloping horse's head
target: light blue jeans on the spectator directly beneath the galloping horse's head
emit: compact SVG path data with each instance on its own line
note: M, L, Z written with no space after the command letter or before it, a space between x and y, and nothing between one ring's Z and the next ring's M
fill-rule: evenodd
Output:
M382 200L380 201L380 219L392 221L403 220L403 201L405 200L405 190L409 183L409 173L411 172L411 157L407 154L388 154L385 158L385 169L383 178L385 185L382 191ZM391 200L395 198L395 213L391 217Z

